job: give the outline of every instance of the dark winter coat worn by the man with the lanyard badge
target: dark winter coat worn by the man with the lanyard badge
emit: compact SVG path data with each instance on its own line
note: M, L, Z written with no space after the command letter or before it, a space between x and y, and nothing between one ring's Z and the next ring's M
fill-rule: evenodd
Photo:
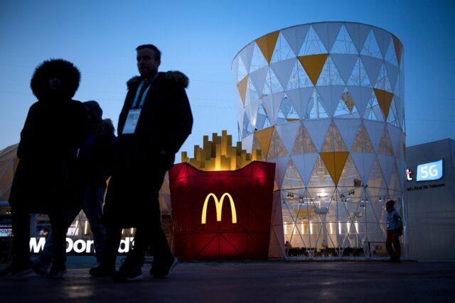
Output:
M176 73L159 72L146 95L134 134L122 131L141 79L134 77L127 83L129 90L117 128L117 160L105 202L106 224L137 226L151 208L159 207L164 173L173 165L175 153L193 126L185 92L188 78L180 75L177 79ZM163 150L166 155L161 154Z

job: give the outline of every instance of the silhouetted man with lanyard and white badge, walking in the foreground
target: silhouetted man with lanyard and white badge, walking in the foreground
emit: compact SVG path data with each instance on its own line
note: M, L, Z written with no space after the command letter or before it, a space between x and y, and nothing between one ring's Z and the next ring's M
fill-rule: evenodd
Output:
M116 163L104 208L105 247L101 264L90 270L94 277L113 275L117 282L142 278L149 247L154 251L151 275L167 277L176 265L161 227L159 189L193 126L185 92L188 78L180 72L158 72L161 52L155 45L136 50L140 77L127 82L119 116ZM130 227L136 227L134 248L115 272L122 228Z

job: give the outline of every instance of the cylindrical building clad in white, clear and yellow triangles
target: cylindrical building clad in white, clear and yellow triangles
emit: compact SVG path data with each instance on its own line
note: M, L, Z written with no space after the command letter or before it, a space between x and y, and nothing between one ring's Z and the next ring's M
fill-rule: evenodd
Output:
M242 144L277 163L284 240L303 255L379 255L404 209L403 46L375 26L275 31L232 62ZM289 246L288 246L289 247Z

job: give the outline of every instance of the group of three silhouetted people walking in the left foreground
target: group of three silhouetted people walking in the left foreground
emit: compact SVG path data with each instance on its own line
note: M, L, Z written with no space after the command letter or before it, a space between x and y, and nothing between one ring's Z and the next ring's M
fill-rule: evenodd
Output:
M73 63L53 59L36 67L31 89L38 101L21 131L9 199L12 262L0 276L36 272L63 277L66 234L81 210L95 244L93 277L140 280L150 248L154 277L167 277L176 265L161 227L159 189L191 133L188 78L181 72L158 72L161 52L156 46L139 45L136 50L140 76L127 82L117 137L97 101L73 99L80 84ZM43 251L33 260L29 214L47 214L51 225ZM123 228L136 228L134 247L117 270Z

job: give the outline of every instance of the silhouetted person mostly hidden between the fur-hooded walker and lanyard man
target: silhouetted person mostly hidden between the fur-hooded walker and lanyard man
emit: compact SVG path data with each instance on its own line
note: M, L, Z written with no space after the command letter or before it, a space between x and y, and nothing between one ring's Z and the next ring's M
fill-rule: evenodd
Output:
M89 132L77 155L76 192L77 204L65 211L65 228L70 227L81 209L90 223L95 256L100 263L106 231L102 225L102 204L105 199L106 181L112 173L114 152L114 126L111 119L102 119L102 109L97 101L84 102L89 116ZM33 260L33 270L45 275L52 262L52 232L43 251Z

